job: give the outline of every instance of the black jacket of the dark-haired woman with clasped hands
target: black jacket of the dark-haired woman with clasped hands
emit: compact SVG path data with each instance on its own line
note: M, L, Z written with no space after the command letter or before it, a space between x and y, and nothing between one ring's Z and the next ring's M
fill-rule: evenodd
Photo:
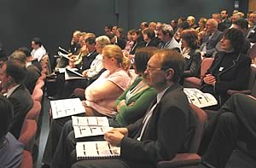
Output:
M202 82L201 90L203 92L212 93L218 99L219 105L223 105L230 96L227 90L243 90L247 86L248 76L250 72L251 59L243 54L236 54L236 59L230 67L224 67L224 71L219 72L216 78L215 87ZM218 71L219 64L225 59L224 52L218 52L212 62L212 66L207 70L207 73L213 74Z

